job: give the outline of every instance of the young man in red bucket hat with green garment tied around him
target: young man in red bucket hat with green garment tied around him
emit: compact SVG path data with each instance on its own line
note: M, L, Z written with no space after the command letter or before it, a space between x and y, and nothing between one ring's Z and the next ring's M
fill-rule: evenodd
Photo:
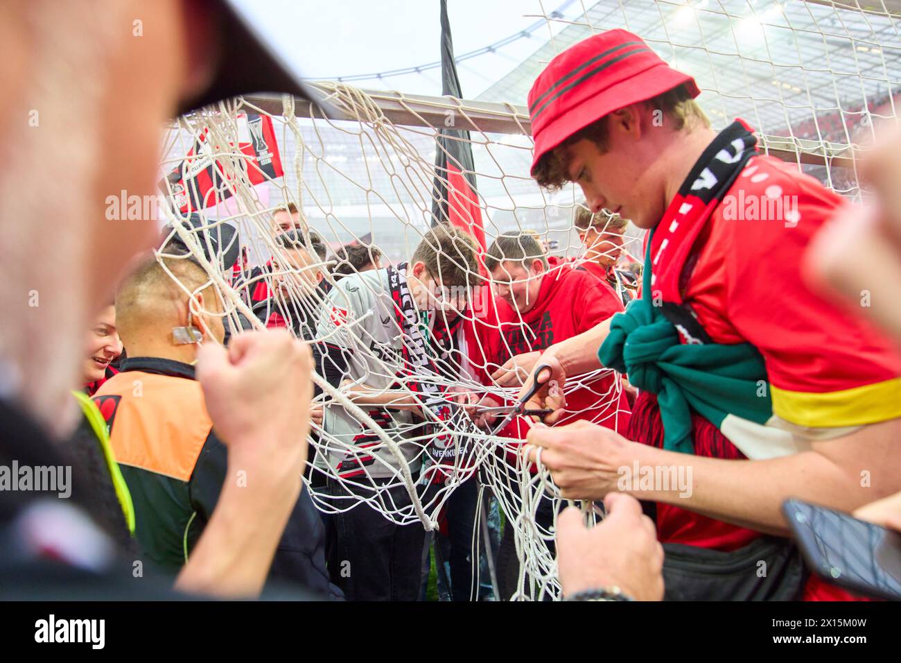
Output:
M741 120L715 133L699 93L623 30L572 46L532 86L532 177L578 184L592 212L649 237L642 299L533 364L550 366L540 382L628 373L640 393L625 435L539 426L526 453L564 497L654 505L668 598L847 598L806 576L780 507L852 511L901 489L901 358L802 280L842 198L760 155ZM552 422L557 393L529 407L554 408Z

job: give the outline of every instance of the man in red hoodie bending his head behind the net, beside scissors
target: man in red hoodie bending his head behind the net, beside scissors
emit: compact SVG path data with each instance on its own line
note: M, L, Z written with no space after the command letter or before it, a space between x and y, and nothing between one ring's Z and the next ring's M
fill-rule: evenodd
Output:
M495 362L502 365L491 376L502 386L522 382L518 364L533 362L551 345L585 332L623 310L622 299L605 281L572 263L548 257L539 238L529 232L500 235L488 247L485 266L496 296L509 305L512 313L499 320L501 344ZM572 384L570 389L576 386ZM558 423L577 420L625 431L629 404L613 371L583 376L583 384L567 395L567 410ZM490 420L487 423L494 424ZM500 435L523 438L527 430L523 420L518 419ZM551 500L542 499L536 522L550 529L553 519ZM508 599L518 577L513 528L505 528L498 557L501 594Z

